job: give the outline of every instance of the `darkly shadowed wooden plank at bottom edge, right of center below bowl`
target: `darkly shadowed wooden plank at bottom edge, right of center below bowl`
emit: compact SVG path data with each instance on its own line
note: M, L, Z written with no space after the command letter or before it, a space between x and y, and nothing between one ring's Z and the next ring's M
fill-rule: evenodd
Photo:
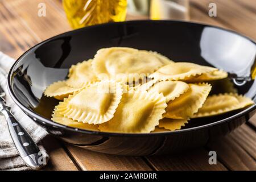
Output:
M217 162L216 165L210 165L208 151L204 150L204 148L175 155L148 156L147 160L158 170L227 170L221 162Z

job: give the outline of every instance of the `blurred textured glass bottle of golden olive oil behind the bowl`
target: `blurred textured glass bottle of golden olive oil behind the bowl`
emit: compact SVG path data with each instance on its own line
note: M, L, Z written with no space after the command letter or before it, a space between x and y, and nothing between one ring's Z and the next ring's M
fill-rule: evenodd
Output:
M72 28L121 22L126 18L126 0L63 0Z

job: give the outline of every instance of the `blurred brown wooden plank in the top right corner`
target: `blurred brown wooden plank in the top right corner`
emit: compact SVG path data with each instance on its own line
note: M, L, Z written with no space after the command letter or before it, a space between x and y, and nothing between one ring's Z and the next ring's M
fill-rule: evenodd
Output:
M208 16L208 5L211 2L216 3L217 5L217 17ZM256 39L256 12L247 10L244 6L241 6L236 1L191 0L191 5L201 10L205 16L209 17L208 19L216 19L218 22L225 24L232 30L236 30L254 40ZM252 5L253 4L251 4L251 6Z

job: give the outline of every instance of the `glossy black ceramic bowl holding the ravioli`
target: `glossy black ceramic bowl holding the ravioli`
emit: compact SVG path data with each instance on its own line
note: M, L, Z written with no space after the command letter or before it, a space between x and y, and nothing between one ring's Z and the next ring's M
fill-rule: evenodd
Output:
M256 46L252 40L222 28L175 21L108 23L57 35L32 47L13 65L8 88L15 103L36 123L65 142L88 150L118 155L154 155L203 146L228 134L253 115L256 105L218 117L191 119L181 130L150 134L102 133L75 129L51 121L58 103L43 96L46 86L67 77L68 68L92 58L104 47L157 51L174 61L211 65L229 72L213 82L213 93L238 93L256 100ZM132 113L131 113L132 114Z

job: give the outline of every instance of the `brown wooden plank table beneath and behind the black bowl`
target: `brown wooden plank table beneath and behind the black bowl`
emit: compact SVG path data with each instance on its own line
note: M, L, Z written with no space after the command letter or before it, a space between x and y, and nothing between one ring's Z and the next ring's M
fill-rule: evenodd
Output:
M38 4L46 3L46 17ZM217 17L208 16L210 2ZM191 20L238 31L256 40L256 1L192 0ZM129 16L128 19L138 19ZM60 0L0 0L0 51L18 58L28 48L53 35L69 31ZM177 155L130 157L100 154L60 142L44 141L51 160L46 170L256 170L256 115L233 133L208 146ZM208 152L217 152L209 165Z

